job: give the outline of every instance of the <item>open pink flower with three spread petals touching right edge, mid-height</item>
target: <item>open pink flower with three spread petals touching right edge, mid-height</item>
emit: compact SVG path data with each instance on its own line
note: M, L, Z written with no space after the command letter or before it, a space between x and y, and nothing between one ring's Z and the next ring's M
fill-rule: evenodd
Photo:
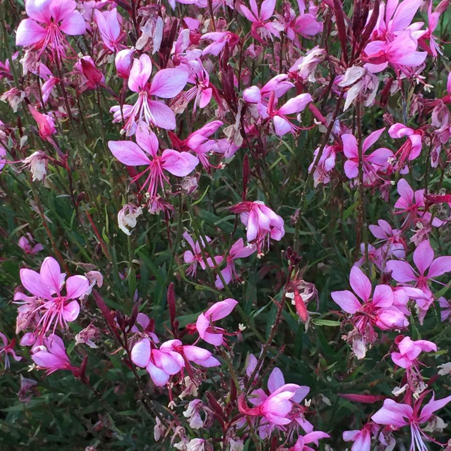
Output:
M430 295L429 281L436 282L433 278L439 277L451 271L451 256L437 257L434 260L434 251L429 241L424 240L413 252L413 262L416 272L407 262L390 260L387 262L387 270L391 271L391 277L400 283L415 282L415 287ZM427 274L426 273L427 270Z

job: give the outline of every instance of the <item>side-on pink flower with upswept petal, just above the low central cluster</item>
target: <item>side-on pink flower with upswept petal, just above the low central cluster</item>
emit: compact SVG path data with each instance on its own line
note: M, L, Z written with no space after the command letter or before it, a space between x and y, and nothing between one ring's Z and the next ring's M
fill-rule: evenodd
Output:
M224 341L223 334L225 330L214 326L212 323L230 315L237 304L238 302L235 299L227 298L216 302L205 313L201 313L197 317L195 325L199 337L207 343L220 346Z

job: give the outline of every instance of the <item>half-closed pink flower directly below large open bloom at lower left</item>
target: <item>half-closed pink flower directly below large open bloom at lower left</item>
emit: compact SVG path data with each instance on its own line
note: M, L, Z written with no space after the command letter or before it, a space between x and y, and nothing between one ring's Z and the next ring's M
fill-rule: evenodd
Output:
M52 374L60 369L74 370L69 357L66 354L63 340L55 334L51 334L44 338L41 346L33 349L32 360L40 368L47 369L47 374Z

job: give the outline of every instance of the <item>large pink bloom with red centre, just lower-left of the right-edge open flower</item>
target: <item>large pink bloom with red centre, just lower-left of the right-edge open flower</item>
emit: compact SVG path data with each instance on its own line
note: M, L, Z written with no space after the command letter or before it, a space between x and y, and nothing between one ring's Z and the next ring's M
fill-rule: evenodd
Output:
M387 330L408 325L404 314L393 305L391 287L377 285L371 298L371 282L356 266L351 269L349 283L363 304L349 290L334 291L331 296L346 313L354 315L354 325L367 342L372 343L376 339L373 326Z

